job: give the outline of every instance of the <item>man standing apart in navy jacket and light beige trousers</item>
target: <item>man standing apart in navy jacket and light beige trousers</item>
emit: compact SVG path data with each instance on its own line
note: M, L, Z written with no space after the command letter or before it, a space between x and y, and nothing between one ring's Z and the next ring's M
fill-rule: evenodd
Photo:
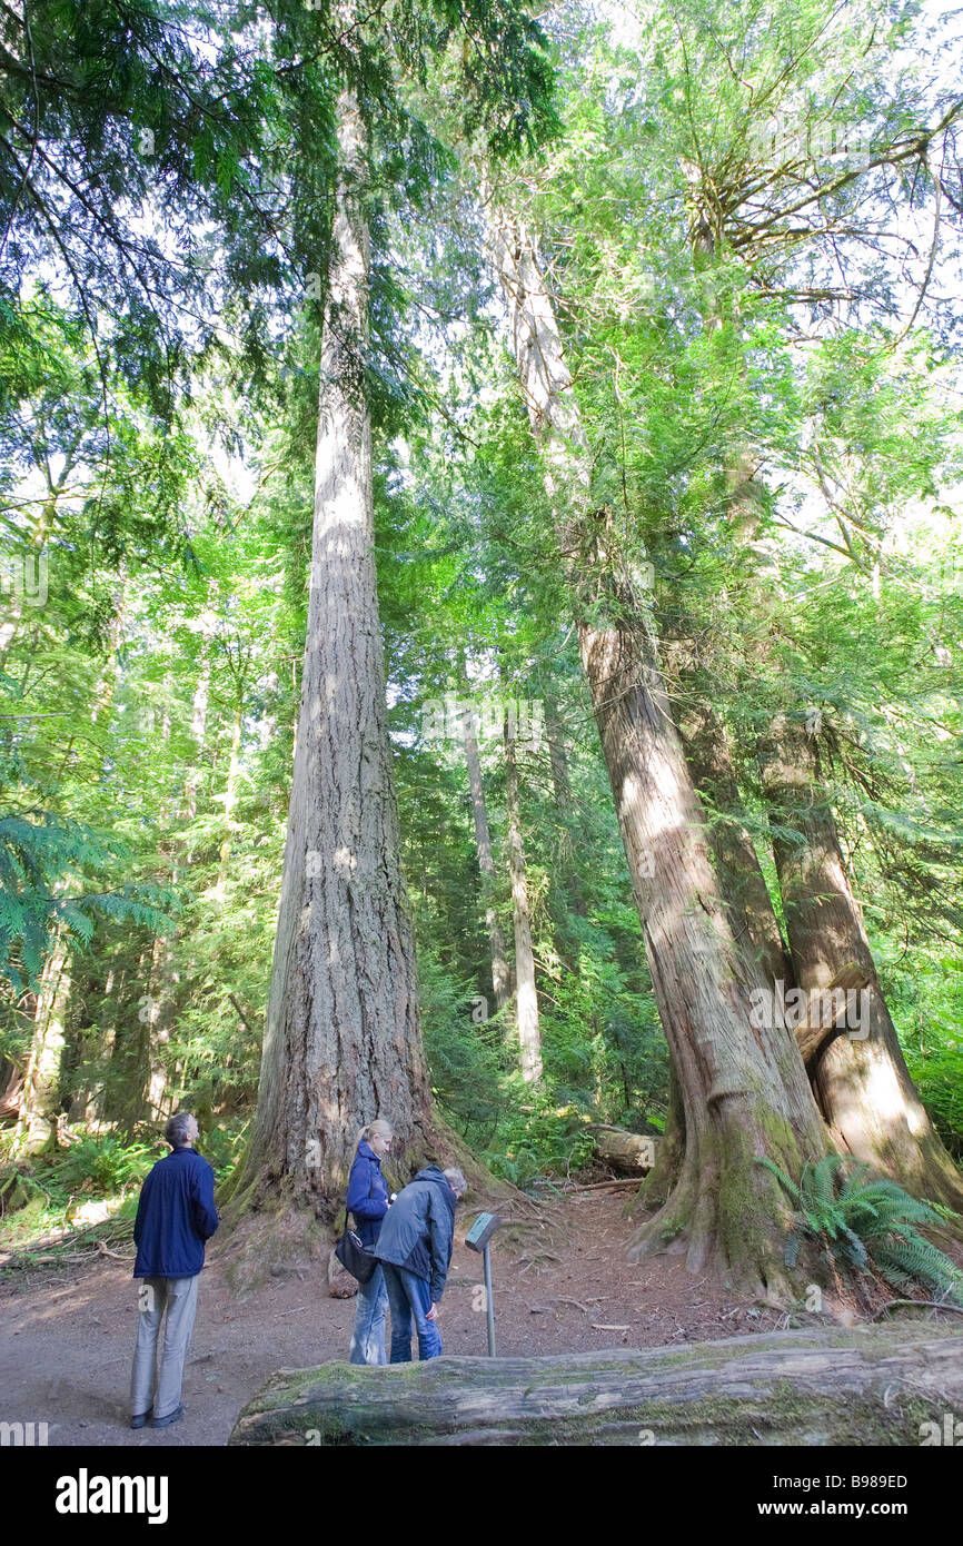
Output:
M213 1206L213 1170L193 1152L199 1127L190 1112L176 1112L164 1136L170 1153L158 1160L141 1187L134 1243L134 1277L142 1277L138 1300L138 1345L130 1379L130 1425L168 1429L184 1416L181 1381L198 1309L198 1280L204 1241L218 1228ZM158 1333L164 1350L158 1373Z

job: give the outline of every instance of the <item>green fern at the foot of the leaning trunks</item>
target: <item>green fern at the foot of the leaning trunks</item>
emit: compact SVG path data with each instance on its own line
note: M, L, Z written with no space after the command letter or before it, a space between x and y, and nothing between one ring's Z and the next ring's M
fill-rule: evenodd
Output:
M771 1160L759 1164L773 1172L795 1204L785 1241L787 1266L796 1265L802 1240L812 1238L849 1271L864 1272L872 1266L900 1292L924 1283L963 1303L963 1272L920 1234L920 1226L943 1221L929 1203L917 1201L895 1181L870 1175L867 1164L847 1170L841 1155L805 1164L799 1184Z

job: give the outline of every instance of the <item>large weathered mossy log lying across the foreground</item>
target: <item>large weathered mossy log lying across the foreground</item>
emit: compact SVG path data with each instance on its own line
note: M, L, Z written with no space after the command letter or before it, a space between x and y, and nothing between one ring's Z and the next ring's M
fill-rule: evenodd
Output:
M230 1444L920 1444L963 1404L963 1331L782 1331L558 1357L280 1370Z

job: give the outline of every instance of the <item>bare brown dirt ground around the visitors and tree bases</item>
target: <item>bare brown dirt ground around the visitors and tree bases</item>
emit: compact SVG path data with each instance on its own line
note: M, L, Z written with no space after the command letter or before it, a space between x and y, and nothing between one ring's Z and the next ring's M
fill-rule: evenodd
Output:
M471 1212L459 1220L459 1234ZM624 1192L532 1204L521 1231L492 1248L499 1356L706 1342L787 1325L680 1257L626 1260ZM484 1354L481 1257L456 1240L439 1326L445 1353ZM48 1422L51 1444L190 1447L226 1444L238 1413L278 1368L346 1359L354 1299L331 1299L326 1263L280 1263L238 1296L216 1243L209 1249L184 1374L185 1416L161 1432L127 1427L136 1334L131 1263L17 1271L0 1279L0 1421ZM478 1308L476 1308L478 1306ZM801 1313L796 1325L815 1325Z

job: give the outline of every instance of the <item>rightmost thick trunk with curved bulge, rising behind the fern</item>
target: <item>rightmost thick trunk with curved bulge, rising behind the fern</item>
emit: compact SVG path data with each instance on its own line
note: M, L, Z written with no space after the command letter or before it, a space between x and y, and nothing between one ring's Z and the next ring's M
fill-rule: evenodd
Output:
M810 1073L841 1149L918 1197L963 1207L963 1177L909 1076L853 897L813 737L785 716L762 744L762 775L799 985L816 1002L842 983L847 1020L810 1010ZM793 833L787 836L784 833ZM838 994L836 994L838 997ZM835 1005L830 1005L830 1011Z

